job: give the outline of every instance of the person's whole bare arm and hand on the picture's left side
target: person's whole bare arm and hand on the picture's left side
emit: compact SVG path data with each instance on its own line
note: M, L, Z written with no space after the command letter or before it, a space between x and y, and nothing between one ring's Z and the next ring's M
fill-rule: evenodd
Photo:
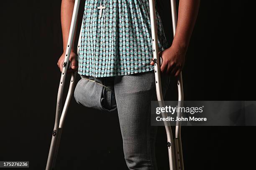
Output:
M63 37L63 54L61 55L57 63L61 72L62 72L63 63L65 59L65 52L67 48L73 10L74 10L74 0L61 1L61 30L62 30L62 37ZM75 30L77 30L77 27ZM73 72L77 70L76 54L74 51L74 40L71 45L71 53L70 53L69 61L71 62L71 69L67 70L67 72Z

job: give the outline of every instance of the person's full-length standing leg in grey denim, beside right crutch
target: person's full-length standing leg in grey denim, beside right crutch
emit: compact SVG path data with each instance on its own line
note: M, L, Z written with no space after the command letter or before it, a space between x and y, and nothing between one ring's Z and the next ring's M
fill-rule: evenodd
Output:
M165 95L169 77L161 75ZM130 170L157 170L155 138L151 126L151 100L156 99L154 70L115 77L115 99L123 137L125 161Z

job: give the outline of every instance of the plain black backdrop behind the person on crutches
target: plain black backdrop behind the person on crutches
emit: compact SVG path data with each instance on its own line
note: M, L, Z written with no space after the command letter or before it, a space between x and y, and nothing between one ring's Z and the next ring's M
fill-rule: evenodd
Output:
M54 127L63 52L61 0L1 2L0 160L30 161L43 170ZM171 43L169 0L158 0ZM255 100L247 1L202 0L183 70L184 100ZM84 1L79 10L82 21ZM78 80L77 80L78 81ZM175 82L174 82L175 83ZM176 85L166 100L177 100ZM255 127L182 127L187 170L254 167ZM164 127L157 143L159 170L168 170ZM252 156L250 155L252 154ZM74 98L61 136L56 170L126 168L117 112L79 106Z

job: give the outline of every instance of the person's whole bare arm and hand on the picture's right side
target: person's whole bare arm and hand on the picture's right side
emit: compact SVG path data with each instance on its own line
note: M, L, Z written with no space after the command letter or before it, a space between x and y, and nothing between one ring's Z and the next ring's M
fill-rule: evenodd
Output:
M179 0L177 28L172 46L159 53L163 58L160 68L162 73L177 76L181 72L199 5L200 0Z

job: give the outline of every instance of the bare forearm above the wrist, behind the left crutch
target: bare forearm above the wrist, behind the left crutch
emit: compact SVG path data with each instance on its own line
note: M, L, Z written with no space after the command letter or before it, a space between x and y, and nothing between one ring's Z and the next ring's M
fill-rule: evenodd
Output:
M68 42L68 37L69 37L69 30L70 30L73 10L74 10L74 0L62 0L61 1L61 30L62 30L62 37L63 37L63 51L64 52L66 51L66 48L67 48L67 42ZM72 52L74 52L74 39L73 39L73 42L71 45Z

